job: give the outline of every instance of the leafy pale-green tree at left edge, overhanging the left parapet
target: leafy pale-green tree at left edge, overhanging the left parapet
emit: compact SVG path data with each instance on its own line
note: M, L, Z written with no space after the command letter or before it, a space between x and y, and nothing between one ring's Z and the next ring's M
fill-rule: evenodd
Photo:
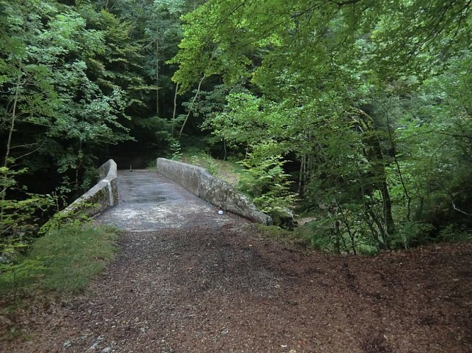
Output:
M59 173L74 176L79 191L94 148L127 136L118 122L125 116L122 92L104 93L88 77L85 61L104 52L103 33L54 1L0 6L1 222L10 219L9 229L28 218L13 215L32 216L32 205L41 207L16 179L54 163Z

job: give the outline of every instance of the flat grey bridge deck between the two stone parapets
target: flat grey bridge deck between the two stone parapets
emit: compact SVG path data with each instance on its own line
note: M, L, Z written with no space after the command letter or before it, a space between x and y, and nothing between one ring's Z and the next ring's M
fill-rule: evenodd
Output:
M218 208L153 170L120 170L118 190L118 205L96 220L125 230L211 227L238 219L219 215Z

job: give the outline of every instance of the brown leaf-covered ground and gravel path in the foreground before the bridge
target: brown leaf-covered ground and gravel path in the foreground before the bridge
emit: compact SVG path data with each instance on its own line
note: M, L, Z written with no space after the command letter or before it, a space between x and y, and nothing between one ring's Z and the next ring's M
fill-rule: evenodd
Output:
M85 294L1 352L472 352L472 244L333 256L251 224L127 232Z

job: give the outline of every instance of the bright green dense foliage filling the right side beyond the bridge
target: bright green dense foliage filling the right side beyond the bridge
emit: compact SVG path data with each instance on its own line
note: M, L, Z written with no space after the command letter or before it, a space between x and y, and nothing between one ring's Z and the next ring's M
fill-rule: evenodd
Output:
M221 77L229 95L204 126L225 147L299 165L313 241L356 253L444 239L452 228L466 234L470 8L209 0L184 18L174 80L186 90Z

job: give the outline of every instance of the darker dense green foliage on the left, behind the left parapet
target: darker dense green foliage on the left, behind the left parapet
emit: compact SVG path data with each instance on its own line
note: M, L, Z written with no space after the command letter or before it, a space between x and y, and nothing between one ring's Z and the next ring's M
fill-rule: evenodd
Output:
M0 0L2 239L34 236L96 181L113 145L168 150L173 107L159 96L175 85L165 62L180 14L197 3Z

